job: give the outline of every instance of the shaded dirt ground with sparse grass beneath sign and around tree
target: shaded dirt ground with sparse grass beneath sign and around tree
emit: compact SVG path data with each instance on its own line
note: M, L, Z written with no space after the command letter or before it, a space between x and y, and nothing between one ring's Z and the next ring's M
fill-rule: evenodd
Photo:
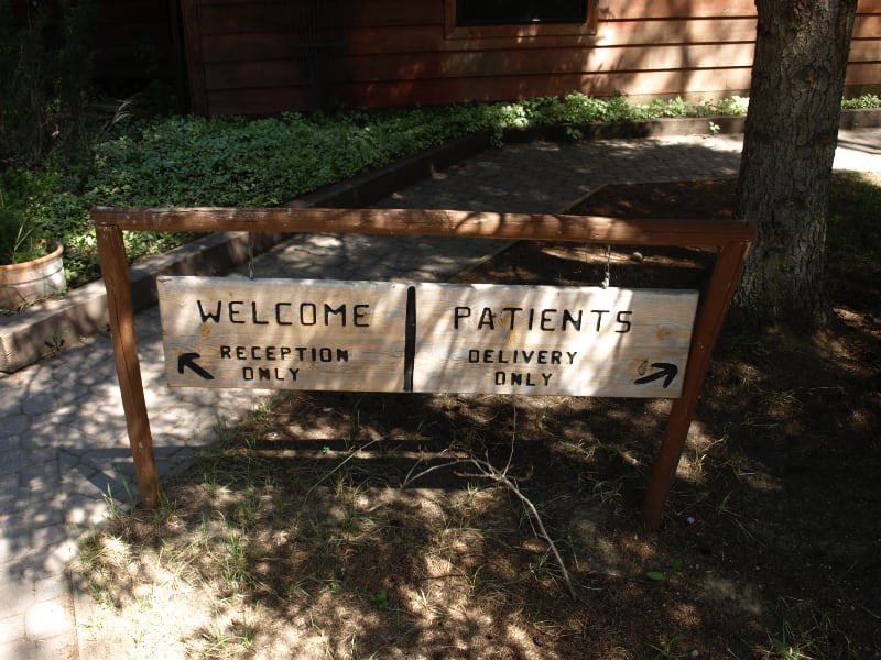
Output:
M573 212L732 204L609 186ZM853 251L830 245L827 331L724 332L660 531L639 510L668 402L296 394L84 542L91 657L881 658L881 273ZM711 257L612 251L612 285L699 287ZM520 243L464 279L605 265Z

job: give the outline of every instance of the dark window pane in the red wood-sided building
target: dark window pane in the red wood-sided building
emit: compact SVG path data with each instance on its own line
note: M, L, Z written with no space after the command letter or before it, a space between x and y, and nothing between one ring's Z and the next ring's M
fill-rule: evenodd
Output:
M584 23L587 0L456 0L457 25Z

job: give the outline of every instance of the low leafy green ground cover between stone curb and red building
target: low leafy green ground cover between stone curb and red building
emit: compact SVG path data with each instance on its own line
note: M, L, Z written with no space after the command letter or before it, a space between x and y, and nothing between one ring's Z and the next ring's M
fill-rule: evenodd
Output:
M862 99L863 105L873 102L871 97ZM93 206L272 206L477 131L489 131L493 143L500 144L505 131L565 125L569 139L578 140L579 124L739 114L747 105L741 97L638 105L620 94L598 99L572 92L516 102L348 109L248 120L139 118L133 105L124 103L104 122L104 130L93 129L91 146L80 150L93 158L87 176L64 172L63 186L47 202L53 213L47 221L52 235L65 245L68 282L76 286L98 276L88 217ZM138 232L127 234L126 241L137 260L191 238Z

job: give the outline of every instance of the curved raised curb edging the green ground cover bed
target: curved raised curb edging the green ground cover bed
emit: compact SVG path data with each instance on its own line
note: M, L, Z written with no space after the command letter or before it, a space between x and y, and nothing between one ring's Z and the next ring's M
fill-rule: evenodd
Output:
M585 140L616 140L742 133L743 117L707 116L614 123L573 124L530 130L509 130L507 142L566 141L577 130ZM713 128L710 127L713 124ZM845 110L842 129L881 127L881 109ZM304 195L294 207L367 207L420 179L431 176L488 148L491 134L466 135L385 167L355 176L344 183ZM269 250L285 234L257 234L254 252ZM150 257L132 266L132 298L135 310L156 301L155 278L160 275L219 274L248 258L248 238L241 232L218 233ZM26 314L0 318L0 373L13 373L53 355L83 338L107 330L107 294L104 282L72 289L66 296L34 306ZM0 375L2 377L2 375Z

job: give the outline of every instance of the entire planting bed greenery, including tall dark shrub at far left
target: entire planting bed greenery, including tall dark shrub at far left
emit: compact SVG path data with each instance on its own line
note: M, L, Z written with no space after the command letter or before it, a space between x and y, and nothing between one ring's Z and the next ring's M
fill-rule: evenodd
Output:
M715 102L675 98L631 103L621 94L598 99L572 92L515 102L350 109L249 121L138 120L127 101L101 121L89 105L89 28L96 7L96 0L34 0L17 6L24 14L17 16L12 1L0 0L0 170L14 168L4 186L18 190L4 189L9 201L3 206L0 258L23 258L29 250L19 243L29 237L61 240L74 286L98 276L88 218L95 205L278 205L476 131L490 131L492 143L501 144L505 131L563 124L566 135L578 140L584 123L742 114L748 103L737 96ZM877 108L881 99L864 95L842 105ZM32 173L26 186L35 186L39 195L22 195L26 176L20 168ZM33 221L21 223L25 206L29 213L39 211L43 227L36 232ZM189 238L132 233L126 240L132 258L140 258Z

